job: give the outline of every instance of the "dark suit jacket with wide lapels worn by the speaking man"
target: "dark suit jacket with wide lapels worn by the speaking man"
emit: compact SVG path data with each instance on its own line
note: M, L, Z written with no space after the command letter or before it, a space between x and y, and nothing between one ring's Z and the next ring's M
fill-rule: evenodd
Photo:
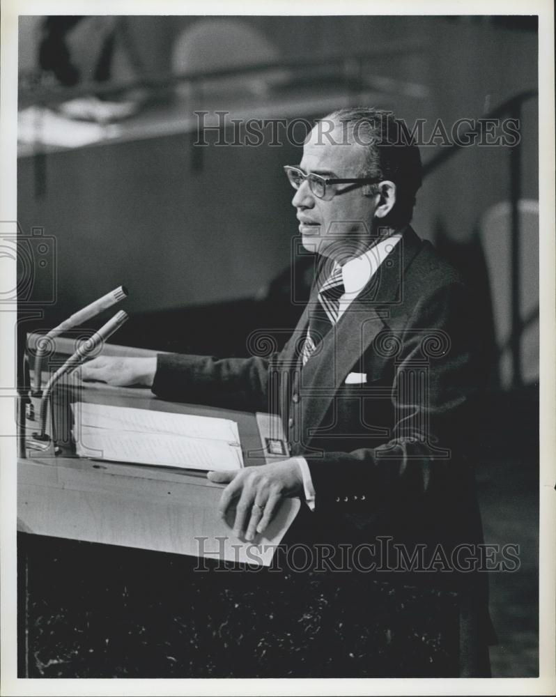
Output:
M479 337L461 277L408 228L301 367L309 305L279 353L269 318L252 337L260 354L252 358L160 355L153 392L281 414L316 491L315 511L302 511L290 540L392 537L410 553L425 544L429 559L438 544L449 558L456 545L481 542L466 452L481 389ZM366 383L346 384L351 372ZM470 574L457 571L437 572L434 583L468 584Z

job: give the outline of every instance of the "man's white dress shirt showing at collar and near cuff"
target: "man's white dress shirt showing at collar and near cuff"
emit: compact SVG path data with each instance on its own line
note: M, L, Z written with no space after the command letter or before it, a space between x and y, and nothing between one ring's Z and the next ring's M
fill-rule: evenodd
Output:
M376 243L376 245L361 256L350 259L343 264L341 274L343 278L343 287L346 292L339 298L340 307L338 319L346 312L346 309L348 309L353 300L357 298L366 284L369 283L373 275L376 274L380 264L383 263L388 254L392 252L394 247L401 240L402 234L403 231L399 231L392 236L380 240L380 242ZM311 359L309 358L309 360ZM303 477L305 500L312 511L315 508L315 489L313 487L313 480L311 480L309 465L304 457L295 457L293 459L295 459L300 466L301 475Z

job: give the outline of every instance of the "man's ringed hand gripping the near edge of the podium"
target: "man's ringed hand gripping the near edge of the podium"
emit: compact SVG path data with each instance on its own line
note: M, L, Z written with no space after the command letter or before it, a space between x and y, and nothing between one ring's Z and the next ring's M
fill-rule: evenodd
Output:
M211 482L229 482L220 497L218 511L225 518L231 503L237 500L233 532L241 537L247 530L247 540L264 532L283 498L303 491L300 466L291 459L242 470L209 472L207 477Z

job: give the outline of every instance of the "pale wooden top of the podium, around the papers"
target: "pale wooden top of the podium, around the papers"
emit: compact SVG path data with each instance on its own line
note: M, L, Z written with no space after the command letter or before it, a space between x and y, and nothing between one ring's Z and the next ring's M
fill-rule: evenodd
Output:
M68 339L56 339L56 351L70 353L72 344ZM155 352L107 345L103 353ZM284 457L269 454L265 447L265 438L281 431L279 418L272 415L169 402L148 389L72 379L70 388L59 391L55 418L71 413L69 405L75 399L227 418L238 424L245 466ZM38 413L37 408L35 411ZM36 422L27 423L28 432L33 427ZM37 452L18 460L17 480L18 529L23 532L238 562L253 563L254 556L260 556L265 565L300 507L298 499L284 501L268 530L253 544L236 538L231 521L219 518L217 503L223 485L209 482L203 472L82 459L63 447L59 456Z

